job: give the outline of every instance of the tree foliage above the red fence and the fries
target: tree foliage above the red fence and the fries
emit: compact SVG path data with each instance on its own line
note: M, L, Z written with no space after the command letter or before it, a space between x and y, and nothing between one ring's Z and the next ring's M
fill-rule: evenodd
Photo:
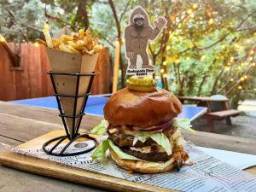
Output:
M73 30L90 26L90 11L95 1L3 0L0 3L1 34L8 41L34 41L44 38L42 28L50 21L51 32L63 26Z

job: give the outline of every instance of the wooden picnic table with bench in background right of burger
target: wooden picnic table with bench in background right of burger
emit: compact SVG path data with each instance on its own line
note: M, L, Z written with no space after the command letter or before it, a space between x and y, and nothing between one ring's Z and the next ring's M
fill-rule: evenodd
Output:
M212 132L214 132L213 120L225 119L227 125L232 125L230 117L235 117L241 113L238 110L229 109L229 99L226 97L214 98L211 96L178 96L178 99L181 102L197 102L197 106L206 107L207 113L205 113L202 117L207 119L208 126Z

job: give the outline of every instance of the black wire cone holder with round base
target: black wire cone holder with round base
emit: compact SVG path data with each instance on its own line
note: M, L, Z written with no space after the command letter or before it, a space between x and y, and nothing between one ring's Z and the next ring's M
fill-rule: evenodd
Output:
M84 116L84 108L86 106L86 102L88 100L88 96L90 96L90 88L91 88L91 84L93 82L94 76L96 75L96 73L58 73L58 72L52 72L49 71L48 72L49 77L51 79L51 83L53 85L53 89L54 89L54 96L56 97L56 101L58 104L58 108L60 111L59 116L62 119L62 123L64 125L65 131L66 131L66 136L61 136L61 137L55 137L50 139L48 142L44 143L43 145L43 149L44 152L47 154L51 154L51 155L55 155L55 156L73 156L73 155L77 155L77 154L84 154L87 152L90 152L91 150L93 150L94 148L96 148L96 139L93 137L90 137L88 134L80 134L79 133L79 127L81 125L81 121L82 118ZM75 76L76 77L76 88L75 88L75 95L65 95L65 94L58 94L57 89L56 89L56 85L55 85L55 78L54 76L56 75L66 75L66 76ZM84 94L79 95L79 83L80 83L80 77L81 76L88 76L90 77L90 81L87 87L87 90ZM70 97L74 99L74 106L73 106L73 114L66 114L64 113L63 108L61 107L61 101L60 101L60 97ZM81 111L79 112L79 114L77 114L77 102L78 102L78 98L79 97L84 97L84 102L82 104L82 108ZM73 119L73 126L72 126L72 132L70 133L70 131L68 131L68 126L67 126L67 121L65 118L71 118ZM76 123L76 119L78 119L77 123ZM85 148L85 149L81 149L78 152L72 152L72 153L68 153L67 148L73 143L75 142L77 139L79 138L86 138L88 140L92 140L94 142L94 145L90 148ZM63 146L63 148L61 148L60 152L55 152L55 149L64 141L68 139L69 142ZM51 143L55 143L54 145L50 146L49 145ZM48 148L49 147L49 148ZM84 146L87 147L87 146Z

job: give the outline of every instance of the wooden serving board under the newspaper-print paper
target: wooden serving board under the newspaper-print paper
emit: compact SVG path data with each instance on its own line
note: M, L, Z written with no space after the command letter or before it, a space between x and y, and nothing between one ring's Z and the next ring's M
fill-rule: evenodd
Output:
M37 148L38 146L42 146L50 138L58 137L64 134L64 131L61 130L52 131L29 142L22 143L17 147ZM55 177L73 183L81 183L84 185L90 185L93 187L110 189L114 191L177 191L155 187L143 183L135 183L118 177L104 175L102 173L90 172L73 166L66 166L54 161L42 160L32 156L17 154L8 150L3 151L3 154L0 155L0 164L3 166L10 166L15 169L36 173L47 177Z

